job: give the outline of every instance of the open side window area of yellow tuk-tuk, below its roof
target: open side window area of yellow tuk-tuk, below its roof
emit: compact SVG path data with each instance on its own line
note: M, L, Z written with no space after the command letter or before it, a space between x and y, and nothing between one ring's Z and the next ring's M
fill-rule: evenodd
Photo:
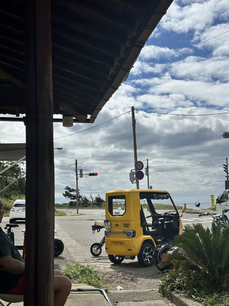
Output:
M148 204L149 210L152 214L163 214L165 211L170 211L171 214L177 214L175 205L170 199L168 193L140 192L139 196L141 205Z

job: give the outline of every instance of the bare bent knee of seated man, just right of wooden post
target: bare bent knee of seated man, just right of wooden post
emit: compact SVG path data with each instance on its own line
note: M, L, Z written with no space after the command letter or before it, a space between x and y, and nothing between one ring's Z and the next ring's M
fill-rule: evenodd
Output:
M58 271L58 272L56 272ZM70 279L59 270L54 271L54 306L64 306L71 291Z

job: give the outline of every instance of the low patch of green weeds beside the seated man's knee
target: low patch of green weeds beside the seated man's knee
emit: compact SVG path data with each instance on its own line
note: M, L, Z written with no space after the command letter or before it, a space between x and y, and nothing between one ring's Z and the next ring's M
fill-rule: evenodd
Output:
M88 284L95 288L99 288L102 285L102 277L93 267L84 266L79 263L76 265L67 264L63 274L70 278L73 283Z

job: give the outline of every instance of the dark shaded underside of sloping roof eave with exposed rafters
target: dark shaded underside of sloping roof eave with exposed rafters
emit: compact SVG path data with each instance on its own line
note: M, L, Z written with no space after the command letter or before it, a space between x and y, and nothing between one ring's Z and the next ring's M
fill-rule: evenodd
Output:
M93 123L172 1L52 0L53 113ZM25 114L24 2L1 0L0 20L0 114L20 116Z

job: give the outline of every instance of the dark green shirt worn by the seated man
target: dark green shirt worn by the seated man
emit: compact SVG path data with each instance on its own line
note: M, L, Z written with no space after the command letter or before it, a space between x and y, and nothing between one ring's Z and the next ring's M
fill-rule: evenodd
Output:
M9 255L12 256L13 259L17 259L21 262L24 262L18 249L15 247L11 239L8 238L6 233L4 233L2 228L0 227L0 258ZM0 270L0 293L5 293L10 289L14 288L22 275L23 274L12 274Z

